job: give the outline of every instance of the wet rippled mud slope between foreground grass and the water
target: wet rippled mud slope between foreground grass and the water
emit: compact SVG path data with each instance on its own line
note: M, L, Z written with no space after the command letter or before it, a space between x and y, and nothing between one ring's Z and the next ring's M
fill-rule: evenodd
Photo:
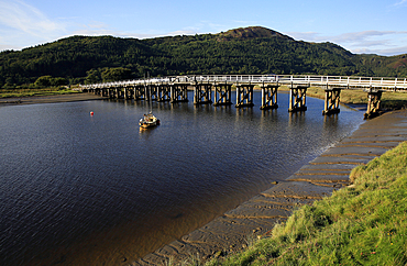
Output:
M167 265L170 258L176 264L196 254L209 259L242 251L251 239L268 235L295 208L311 204L350 185L349 174L354 167L367 164L404 141L407 141L407 110L369 120L286 180L271 184L268 190L237 209L125 265Z

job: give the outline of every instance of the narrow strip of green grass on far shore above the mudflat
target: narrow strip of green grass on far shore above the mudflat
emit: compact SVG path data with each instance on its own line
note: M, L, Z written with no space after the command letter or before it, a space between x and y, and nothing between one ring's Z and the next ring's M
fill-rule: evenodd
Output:
M1 89L0 98L22 98L32 96L58 96L68 93L78 93L79 90L68 89L66 87L59 88L28 88L28 89Z

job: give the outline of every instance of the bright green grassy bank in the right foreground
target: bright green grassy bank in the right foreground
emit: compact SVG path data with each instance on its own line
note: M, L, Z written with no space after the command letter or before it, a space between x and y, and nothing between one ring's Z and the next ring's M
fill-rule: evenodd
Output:
M206 265L406 265L407 142L302 206L246 251Z

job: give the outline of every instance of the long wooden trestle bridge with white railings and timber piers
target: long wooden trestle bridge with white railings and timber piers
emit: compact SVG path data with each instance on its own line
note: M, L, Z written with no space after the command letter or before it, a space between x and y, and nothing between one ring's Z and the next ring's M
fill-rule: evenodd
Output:
M195 104L229 106L232 87L235 88L235 107L253 107L253 90L262 90L262 110L276 109L277 90L287 86L290 91L289 112L306 111L306 92L310 86L326 91L322 114L338 113L342 89L364 89L369 103L365 117L380 110L383 91L406 90L406 78L339 77L339 76L278 76L278 75L208 75L158 77L128 81L81 86L84 91L108 98L155 100L169 102L188 101L188 88L194 88ZM212 93L213 92L213 93ZM213 97L212 97L213 95Z

